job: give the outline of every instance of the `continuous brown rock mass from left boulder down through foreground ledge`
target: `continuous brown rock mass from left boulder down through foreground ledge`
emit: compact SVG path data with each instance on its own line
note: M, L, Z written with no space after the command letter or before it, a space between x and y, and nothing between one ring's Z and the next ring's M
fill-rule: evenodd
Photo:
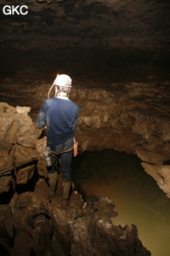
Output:
M8 255L150 255L138 238L135 225L116 226L114 203L108 197L86 201L73 189L69 207L60 207L61 183L52 198L42 160L45 137L40 137L27 115L30 108L1 109L1 200L9 188L11 198L0 205L0 248ZM37 179L34 176L37 172ZM28 191L29 180L33 183ZM26 192L25 192L26 191Z

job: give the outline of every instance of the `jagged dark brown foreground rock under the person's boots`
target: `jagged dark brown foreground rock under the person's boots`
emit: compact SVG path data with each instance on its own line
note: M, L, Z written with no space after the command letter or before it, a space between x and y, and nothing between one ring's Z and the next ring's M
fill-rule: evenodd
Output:
M115 205L108 197L73 191L66 209L59 192L51 199L42 178L34 192L14 194L0 205L0 244L3 255L150 255L138 238L135 225L116 226Z

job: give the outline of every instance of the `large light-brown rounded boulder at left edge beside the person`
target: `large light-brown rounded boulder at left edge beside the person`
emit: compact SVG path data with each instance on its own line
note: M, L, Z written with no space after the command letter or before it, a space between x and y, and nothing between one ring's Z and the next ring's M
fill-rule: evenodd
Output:
M3 102L0 109L0 187L1 192L7 192L14 176L17 183L26 183L33 175L37 160L37 135L25 111L25 114L18 113L19 108Z

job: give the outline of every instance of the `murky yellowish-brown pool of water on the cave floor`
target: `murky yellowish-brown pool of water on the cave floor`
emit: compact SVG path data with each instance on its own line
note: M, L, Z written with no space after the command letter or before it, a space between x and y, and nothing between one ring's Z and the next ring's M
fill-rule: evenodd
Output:
M153 256L170 255L170 200L138 157L114 150L85 152L72 162L72 179L83 196L107 195L116 204L113 224L135 224Z

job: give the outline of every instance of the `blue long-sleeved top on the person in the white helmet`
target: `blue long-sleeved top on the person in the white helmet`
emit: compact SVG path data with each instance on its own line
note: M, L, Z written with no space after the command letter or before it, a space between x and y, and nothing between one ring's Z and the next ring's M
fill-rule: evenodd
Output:
M60 145L71 137L77 127L79 108L70 100L53 97L42 103L38 113L37 128L47 126L47 146Z

